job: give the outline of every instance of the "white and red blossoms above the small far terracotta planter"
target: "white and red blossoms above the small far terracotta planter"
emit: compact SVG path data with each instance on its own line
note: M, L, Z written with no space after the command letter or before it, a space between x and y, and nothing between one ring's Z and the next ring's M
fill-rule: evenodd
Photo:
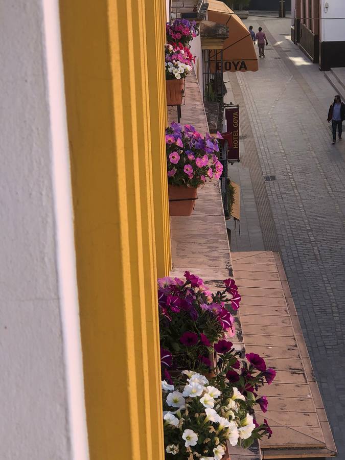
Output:
M189 48L184 47L182 43L178 45L165 45L165 77L166 80L186 78L192 70L192 62L195 58L189 51Z

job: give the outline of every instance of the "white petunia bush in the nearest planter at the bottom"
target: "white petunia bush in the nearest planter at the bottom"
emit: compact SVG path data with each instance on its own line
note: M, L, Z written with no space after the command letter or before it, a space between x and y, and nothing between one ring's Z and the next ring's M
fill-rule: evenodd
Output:
M226 442L247 446L270 431L258 426L236 387L222 392L194 371L183 371L176 385L163 381L162 391L165 458L220 460Z

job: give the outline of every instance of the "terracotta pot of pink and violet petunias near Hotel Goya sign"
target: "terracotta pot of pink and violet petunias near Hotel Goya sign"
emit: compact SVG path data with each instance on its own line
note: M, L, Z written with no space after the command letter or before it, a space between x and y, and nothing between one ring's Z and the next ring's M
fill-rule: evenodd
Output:
M192 125L182 127L172 122L166 129L170 216L190 216L198 187L220 178L219 139L219 132L216 137L202 135Z

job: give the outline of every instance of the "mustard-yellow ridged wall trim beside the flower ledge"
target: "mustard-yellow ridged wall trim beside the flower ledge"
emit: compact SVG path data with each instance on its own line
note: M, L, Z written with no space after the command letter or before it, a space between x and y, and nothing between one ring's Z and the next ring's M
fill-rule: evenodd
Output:
M165 3L60 0L60 16L90 458L159 460Z

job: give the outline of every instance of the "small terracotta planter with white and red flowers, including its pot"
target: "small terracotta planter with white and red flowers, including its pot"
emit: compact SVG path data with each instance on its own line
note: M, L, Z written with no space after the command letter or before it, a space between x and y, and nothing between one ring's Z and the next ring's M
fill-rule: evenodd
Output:
M192 70L193 55L182 43L165 45L167 106L181 105L185 78Z

